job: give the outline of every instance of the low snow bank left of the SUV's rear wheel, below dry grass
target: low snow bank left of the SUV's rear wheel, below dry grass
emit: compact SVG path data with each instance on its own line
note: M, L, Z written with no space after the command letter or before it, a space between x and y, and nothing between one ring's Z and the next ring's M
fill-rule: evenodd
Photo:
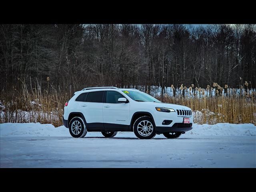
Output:
M64 126L55 128L52 124L40 123L3 123L0 124L0 136L68 136Z

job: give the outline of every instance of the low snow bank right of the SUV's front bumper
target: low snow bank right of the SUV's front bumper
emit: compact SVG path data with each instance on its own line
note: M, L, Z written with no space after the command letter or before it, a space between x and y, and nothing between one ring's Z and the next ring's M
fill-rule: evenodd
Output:
M186 134L195 135L256 135L256 126L253 124L230 124L230 123L217 123L214 125L193 124L193 129L186 132Z

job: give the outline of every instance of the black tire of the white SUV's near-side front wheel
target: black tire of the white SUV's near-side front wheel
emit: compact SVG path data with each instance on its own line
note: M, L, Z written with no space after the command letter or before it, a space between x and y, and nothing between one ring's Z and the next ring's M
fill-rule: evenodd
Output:
M146 125L143 123L144 121L148 121L148 122L150 122L150 123L147 123ZM139 130L138 130L138 125L142 125L142 127L144 127L144 126L148 126L148 128L150 128L150 129L148 129L147 131L145 130L143 130L143 128L140 128ZM151 125L150 125L151 124ZM152 129L151 129L152 128ZM134 122L134 124L133 124L133 131L134 131L134 134L136 135L136 137L138 137L139 139L152 139L152 138L154 138L155 136L156 136L156 130L155 130L155 127L154 127L154 123L153 123L153 120L150 118L150 117L148 117L148 116L143 116L143 117L140 117L140 118L138 118L135 122ZM143 131L143 132L142 132ZM141 134L140 134L140 133ZM145 134L145 135L144 135ZM149 135L147 135L147 134L149 134Z

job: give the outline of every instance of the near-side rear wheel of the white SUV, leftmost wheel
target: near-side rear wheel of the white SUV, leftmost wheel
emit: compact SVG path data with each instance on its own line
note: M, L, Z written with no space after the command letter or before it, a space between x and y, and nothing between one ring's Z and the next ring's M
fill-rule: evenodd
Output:
M69 132L74 138L82 138L86 135L87 129L84 120L80 117L74 117L69 122Z

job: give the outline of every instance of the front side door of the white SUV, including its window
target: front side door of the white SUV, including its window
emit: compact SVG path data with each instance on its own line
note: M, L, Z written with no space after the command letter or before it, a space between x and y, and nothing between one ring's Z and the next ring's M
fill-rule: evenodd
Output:
M103 104L103 120L105 128L128 128L130 124L130 103L119 103L118 98L125 98L117 91L106 91ZM122 126L124 125L124 126Z

